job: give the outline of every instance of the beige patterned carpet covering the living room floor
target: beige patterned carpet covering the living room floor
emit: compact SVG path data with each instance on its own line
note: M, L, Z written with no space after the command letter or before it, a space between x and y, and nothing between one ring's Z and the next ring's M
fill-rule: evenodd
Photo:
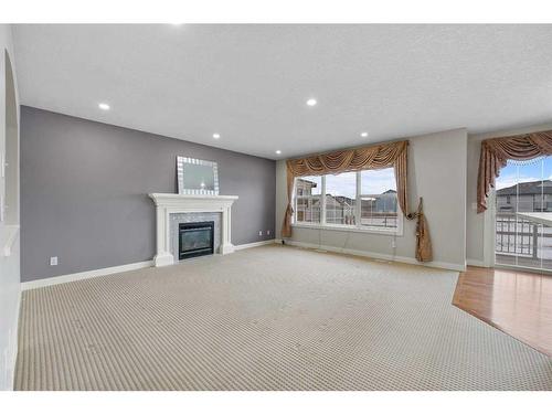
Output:
M265 246L25 291L18 390L552 390L457 274Z

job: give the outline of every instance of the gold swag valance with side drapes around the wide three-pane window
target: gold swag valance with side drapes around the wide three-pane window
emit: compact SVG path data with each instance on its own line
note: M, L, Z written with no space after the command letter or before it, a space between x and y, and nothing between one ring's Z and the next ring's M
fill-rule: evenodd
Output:
M408 141L396 141L380 144L349 150L321 153L301 159L288 160L287 162L287 208L282 225L282 236L291 236L291 219L294 214L293 192L296 177L337 174L349 171L378 170L393 167L396 180L396 197L403 214L408 219L418 219L416 229L417 246L416 258L420 262L432 261L432 245L425 220L420 204L418 211L408 213L407 197L407 167L408 167Z

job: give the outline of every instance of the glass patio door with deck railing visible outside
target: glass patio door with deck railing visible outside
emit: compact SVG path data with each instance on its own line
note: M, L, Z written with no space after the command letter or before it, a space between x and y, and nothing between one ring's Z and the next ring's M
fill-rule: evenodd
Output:
M496 185L495 264L552 270L552 157L508 161Z

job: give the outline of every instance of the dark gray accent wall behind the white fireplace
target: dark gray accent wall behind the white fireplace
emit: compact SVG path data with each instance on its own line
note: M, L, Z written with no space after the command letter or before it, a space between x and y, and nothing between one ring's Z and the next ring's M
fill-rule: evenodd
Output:
M150 261L147 194L177 191L177 156L219 163L233 244L274 238L275 161L22 106L22 282Z

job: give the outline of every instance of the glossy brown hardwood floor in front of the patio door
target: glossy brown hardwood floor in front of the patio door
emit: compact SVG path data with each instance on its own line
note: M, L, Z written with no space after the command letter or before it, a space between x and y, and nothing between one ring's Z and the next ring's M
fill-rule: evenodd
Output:
M552 276L469 266L453 305L552 357Z

